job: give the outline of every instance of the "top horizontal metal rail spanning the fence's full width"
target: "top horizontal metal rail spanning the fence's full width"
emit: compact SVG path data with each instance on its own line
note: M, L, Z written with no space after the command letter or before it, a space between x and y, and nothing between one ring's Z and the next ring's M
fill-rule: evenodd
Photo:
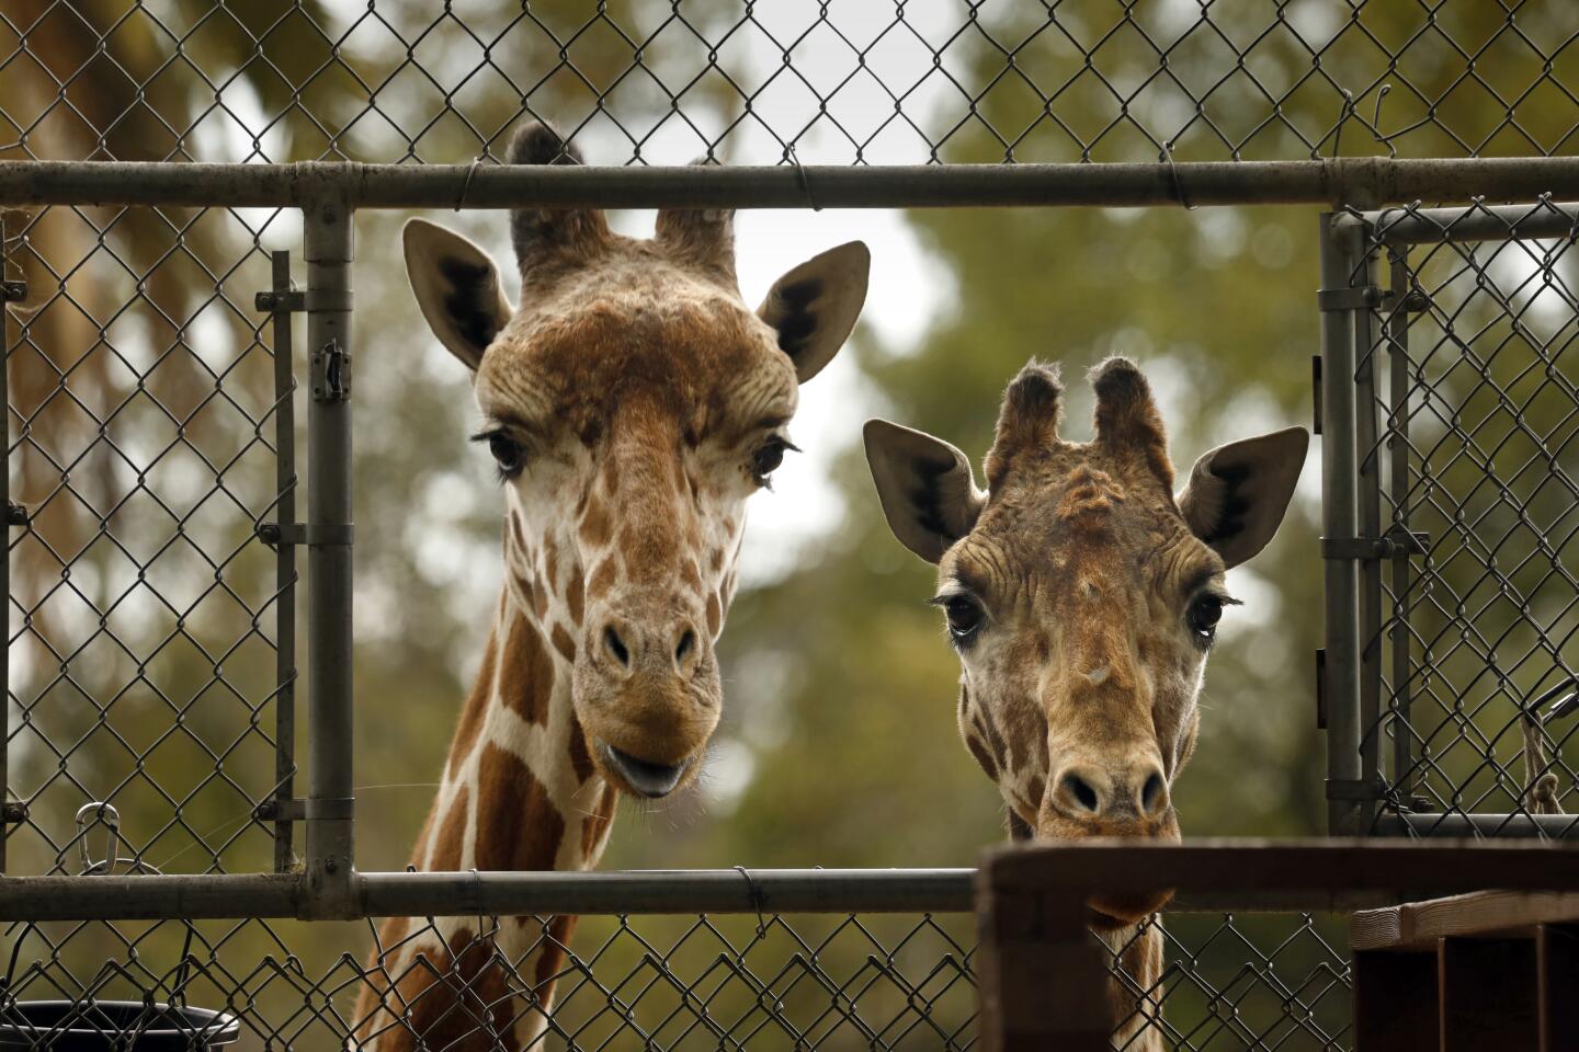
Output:
M0 162L0 205L352 208L958 208L1579 197L1579 158L1336 158L1184 164L597 167Z

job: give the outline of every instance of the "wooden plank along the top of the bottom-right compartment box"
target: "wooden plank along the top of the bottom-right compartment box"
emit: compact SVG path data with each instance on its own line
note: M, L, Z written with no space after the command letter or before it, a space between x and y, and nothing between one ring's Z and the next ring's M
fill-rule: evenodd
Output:
M1448 899L1360 910L1348 918L1353 949L1434 949L1453 935L1535 937L1540 924L1579 921L1579 894L1480 891Z

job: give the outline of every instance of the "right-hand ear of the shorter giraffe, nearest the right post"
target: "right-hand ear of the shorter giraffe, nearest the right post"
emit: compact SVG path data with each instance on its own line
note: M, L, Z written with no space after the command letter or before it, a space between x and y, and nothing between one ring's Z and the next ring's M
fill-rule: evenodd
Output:
M1228 566L1266 547L1288 509L1309 445L1304 427L1288 427L1202 454L1178 497L1191 532Z

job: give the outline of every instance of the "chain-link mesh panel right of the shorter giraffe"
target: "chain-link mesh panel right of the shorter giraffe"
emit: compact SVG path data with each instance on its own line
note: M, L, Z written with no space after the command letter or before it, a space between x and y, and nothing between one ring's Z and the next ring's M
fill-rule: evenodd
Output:
M1382 530L1424 535L1418 555L1383 561L1367 640L1380 683L1367 733L1394 811L1527 815L1543 776L1565 809L1576 800L1573 714L1547 719L1540 703L1571 692L1579 631L1573 237L1527 238L1513 219L1487 240L1380 244L1421 216L1451 230L1495 215L1399 210L1374 235L1396 287L1361 358L1378 421L1361 456L1377 465Z

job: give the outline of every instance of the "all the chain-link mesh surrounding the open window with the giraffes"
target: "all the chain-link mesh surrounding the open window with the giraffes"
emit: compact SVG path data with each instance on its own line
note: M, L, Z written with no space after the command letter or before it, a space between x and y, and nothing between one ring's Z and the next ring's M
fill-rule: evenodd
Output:
M1164 162L1178 180L1200 161L1546 156L1579 129L1576 36L1562 3L19 0L0 9L0 161L486 166L526 115L630 166ZM1374 532L1353 536L1399 546L1356 571L1345 778L1380 831L1535 812L1530 830L1566 830L1547 803L1571 804L1576 724L1535 716L1566 697L1579 599L1574 222L1527 211L1554 218L1525 237L1486 208L1355 216L1348 284L1382 290L1375 260L1393 293L1358 308L1353 388L1355 426L1378 421L1356 431ZM295 561L267 527L295 517L295 380L289 315L254 297L289 290L275 252L300 216L82 200L9 210L3 235L21 282L6 872L294 872ZM589 915L573 942L543 918L526 927L565 943L548 975L501 956L512 924L417 921L388 945L366 923L13 926L0 1028L22 1002L71 1002L90 1028L103 1002L189 1003L234 1017L238 1047L344 1047L358 995L387 998L426 934L455 948L433 959L445 981L475 987L458 1033L513 1024L554 983L542 1047L976 1043L958 915ZM1348 1047L1336 918L1170 916L1167 961L1132 994L1173 1047Z

